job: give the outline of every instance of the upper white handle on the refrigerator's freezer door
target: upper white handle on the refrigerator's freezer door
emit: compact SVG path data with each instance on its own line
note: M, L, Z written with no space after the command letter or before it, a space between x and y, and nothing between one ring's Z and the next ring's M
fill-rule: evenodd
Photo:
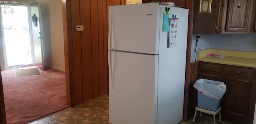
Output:
M113 10L112 9L109 9L109 12L108 12L108 17L109 20L108 20L108 26L109 26L109 31L108 31L108 49L112 49L112 30L113 30L113 26L112 26L112 21L113 21Z

